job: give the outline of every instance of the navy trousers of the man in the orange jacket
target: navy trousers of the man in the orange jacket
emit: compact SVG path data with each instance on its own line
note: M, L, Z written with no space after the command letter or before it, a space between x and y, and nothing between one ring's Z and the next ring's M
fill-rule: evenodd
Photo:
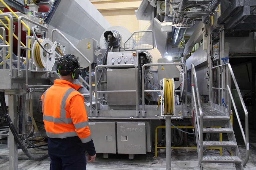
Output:
M70 157L50 155L50 170L86 170L86 154L80 153Z

